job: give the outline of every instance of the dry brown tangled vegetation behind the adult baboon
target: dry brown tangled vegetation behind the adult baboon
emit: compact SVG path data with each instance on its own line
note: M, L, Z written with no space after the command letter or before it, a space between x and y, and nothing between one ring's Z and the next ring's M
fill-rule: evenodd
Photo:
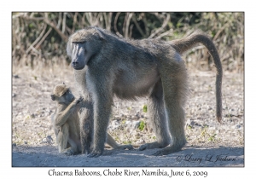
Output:
M100 26L123 38L172 40L201 29L218 48L224 71L243 72L244 14L236 13L79 13L32 12L12 14L13 66L52 66L70 60L66 43L70 34L86 26ZM207 49L198 46L183 55L188 66L211 70Z

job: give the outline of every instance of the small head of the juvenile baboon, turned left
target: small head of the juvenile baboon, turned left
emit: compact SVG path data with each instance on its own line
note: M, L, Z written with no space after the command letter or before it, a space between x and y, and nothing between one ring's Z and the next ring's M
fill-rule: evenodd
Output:
M53 94L50 95L50 97L53 101L65 104L69 104L74 100L74 96L71 90L69 90L69 88L67 88L66 84L64 83L56 85L53 90Z

